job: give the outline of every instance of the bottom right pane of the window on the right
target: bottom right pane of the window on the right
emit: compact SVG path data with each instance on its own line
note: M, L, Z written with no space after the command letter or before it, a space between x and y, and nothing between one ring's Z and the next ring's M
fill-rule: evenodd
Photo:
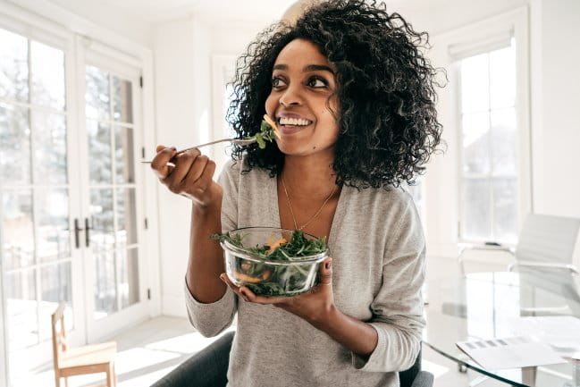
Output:
M493 179L493 235L496 240L517 241L517 180Z

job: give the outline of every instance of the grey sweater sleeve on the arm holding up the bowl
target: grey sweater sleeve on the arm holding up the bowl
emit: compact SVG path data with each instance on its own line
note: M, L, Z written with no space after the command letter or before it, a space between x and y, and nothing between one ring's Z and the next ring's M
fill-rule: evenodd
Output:
M398 372L415 363L421 347L425 241L415 205L410 202L389 235L382 266L382 286L371 304L377 345L366 360L352 354L362 371Z

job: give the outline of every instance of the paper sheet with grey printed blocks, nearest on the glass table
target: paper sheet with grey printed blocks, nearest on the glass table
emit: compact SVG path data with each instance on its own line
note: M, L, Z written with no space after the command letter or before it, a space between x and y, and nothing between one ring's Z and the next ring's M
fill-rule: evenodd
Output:
M459 341L463 350L484 368L508 369L565 363L550 345L517 336L483 341Z

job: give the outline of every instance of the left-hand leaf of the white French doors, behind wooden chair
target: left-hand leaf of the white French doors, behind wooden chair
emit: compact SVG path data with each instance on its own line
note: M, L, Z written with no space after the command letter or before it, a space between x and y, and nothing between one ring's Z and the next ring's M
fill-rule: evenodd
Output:
M72 41L13 27L0 27L0 262L5 368L16 384L51 353L60 301L72 345L85 341L86 324L71 232L80 203Z

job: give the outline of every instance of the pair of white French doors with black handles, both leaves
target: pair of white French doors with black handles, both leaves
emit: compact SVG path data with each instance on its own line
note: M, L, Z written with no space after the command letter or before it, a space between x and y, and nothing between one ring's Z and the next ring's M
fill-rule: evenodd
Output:
M61 301L72 346L147 318L139 65L74 40L0 19L0 378L9 385L52 361L50 315Z

